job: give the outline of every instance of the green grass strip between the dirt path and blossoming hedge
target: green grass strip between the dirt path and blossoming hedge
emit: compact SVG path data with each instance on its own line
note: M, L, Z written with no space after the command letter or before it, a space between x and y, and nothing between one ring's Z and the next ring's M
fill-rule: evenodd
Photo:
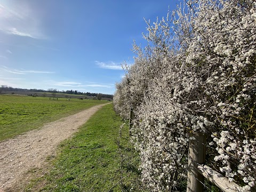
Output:
M139 156L113 105L103 106L74 137L63 141L43 177L25 191L141 191ZM133 185L133 188L131 187Z

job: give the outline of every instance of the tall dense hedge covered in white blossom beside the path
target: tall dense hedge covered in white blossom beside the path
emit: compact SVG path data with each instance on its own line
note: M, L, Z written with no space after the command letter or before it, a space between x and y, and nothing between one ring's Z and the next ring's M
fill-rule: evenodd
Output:
M114 95L119 114L134 111L143 182L181 190L189 135L203 132L214 154L206 163L239 190L255 189L256 1L185 1L147 25L148 46L134 43L134 65Z

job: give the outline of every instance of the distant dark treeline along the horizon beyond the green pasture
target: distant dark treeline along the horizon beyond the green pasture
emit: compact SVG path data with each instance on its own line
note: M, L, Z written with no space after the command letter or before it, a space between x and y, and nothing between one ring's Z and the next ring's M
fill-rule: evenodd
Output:
M93 96L93 97L97 97L97 95L99 93L89 93L89 92L80 92L80 91L73 91L73 90L67 90L67 91L59 91L57 89L48 89L48 90L41 90L41 89L21 89L21 88L13 88L11 86L6 86L6 85L1 85L0 86L0 93L2 91L23 91L23 92L46 92L46 93L66 93L66 94L77 94L77 95L86 95L86 96ZM110 98L113 99L113 95L111 94L102 94L102 98Z

